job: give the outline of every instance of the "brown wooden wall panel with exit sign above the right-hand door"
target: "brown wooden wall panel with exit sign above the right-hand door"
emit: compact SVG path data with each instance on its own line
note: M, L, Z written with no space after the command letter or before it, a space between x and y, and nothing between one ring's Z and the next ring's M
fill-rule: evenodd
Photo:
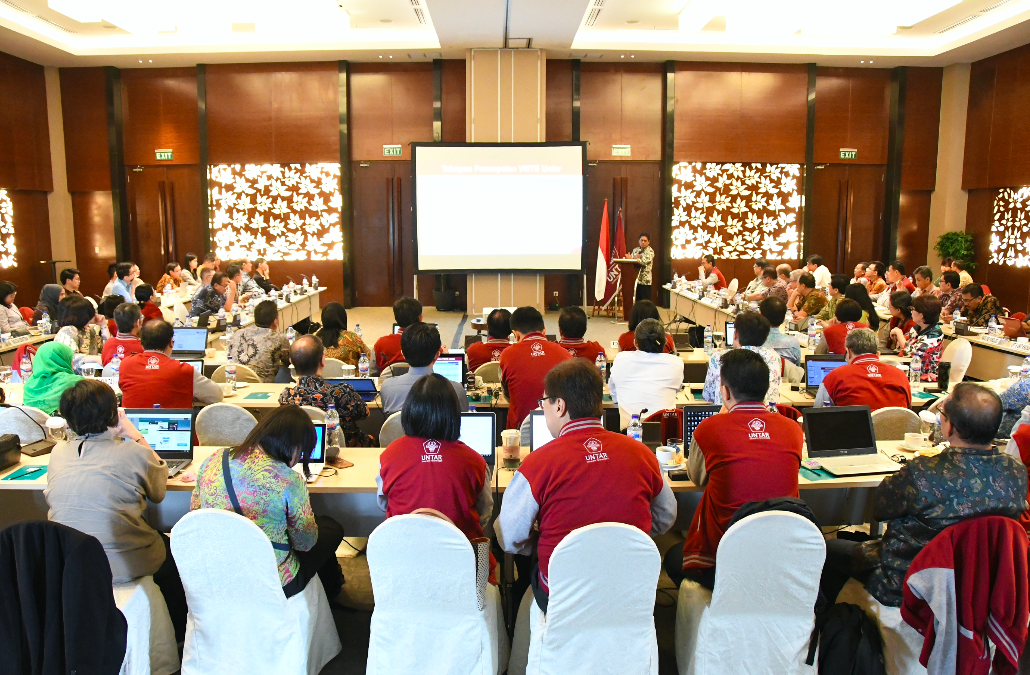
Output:
M890 111L890 70L817 69L815 161L887 164ZM842 147L856 148L858 157L842 160Z

